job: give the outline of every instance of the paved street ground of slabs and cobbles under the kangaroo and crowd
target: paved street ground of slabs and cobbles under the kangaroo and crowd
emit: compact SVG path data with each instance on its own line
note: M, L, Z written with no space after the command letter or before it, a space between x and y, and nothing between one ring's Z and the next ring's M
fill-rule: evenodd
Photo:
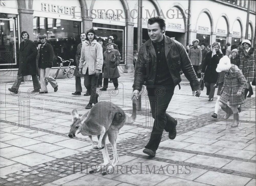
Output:
M133 125L121 128L118 166L103 176L89 174L103 162L101 151L92 149L86 136L67 135L70 112L82 115L89 97L71 95L74 78L60 79L58 85L57 92L48 85L48 94L33 95L32 82L26 82L11 95L11 83L1 84L0 185L256 185L255 93L242 105L241 125L230 128L223 111L218 119L211 117L216 98L208 102L205 90L200 98L192 96L184 82L167 109L178 120L178 135L169 140L164 133L152 158L142 152L154 122L143 94L146 109ZM131 115L132 77L119 78L118 91L110 86L99 92L100 101L114 102ZM97 144L96 136L93 141ZM107 148L112 160L111 145Z

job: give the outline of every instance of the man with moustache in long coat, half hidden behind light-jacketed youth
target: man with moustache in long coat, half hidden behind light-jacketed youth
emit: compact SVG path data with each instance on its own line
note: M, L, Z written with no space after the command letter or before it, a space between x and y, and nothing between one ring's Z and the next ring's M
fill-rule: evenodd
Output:
M79 74L79 61L80 61L80 57L81 57L81 49L82 49L82 45L84 44L85 38L86 38L86 33L81 33L80 34L80 38L81 38L81 43L79 43L77 45L77 53L76 53L76 69L74 71L74 76L76 78L76 91L74 93L72 93L72 95L81 95L82 92L82 86L81 86L81 77L83 77L83 74ZM90 96L90 92L87 90L86 94L84 94L84 96Z

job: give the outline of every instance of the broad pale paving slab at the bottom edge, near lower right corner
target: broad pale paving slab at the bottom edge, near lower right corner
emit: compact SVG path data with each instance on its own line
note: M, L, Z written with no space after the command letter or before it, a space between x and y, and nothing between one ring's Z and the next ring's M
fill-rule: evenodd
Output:
M223 185L226 186L227 183L230 185L245 185L251 180L251 178L246 178L242 176L230 175L221 172L208 171L204 175L201 175L194 181L206 183L210 185Z

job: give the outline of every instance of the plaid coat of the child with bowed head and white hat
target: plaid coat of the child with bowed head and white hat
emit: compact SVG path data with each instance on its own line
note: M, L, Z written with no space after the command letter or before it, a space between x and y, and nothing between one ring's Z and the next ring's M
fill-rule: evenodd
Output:
M237 91L242 91L243 94L245 94L247 82L241 70L238 69L234 71L234 66L235 65L232 64L230 68L234 73L232 73L230 70L229 73L225 73L219 101L224 104L227 104L229 101L230 105L240 105L244 103L245 99L244 95L237 96Z

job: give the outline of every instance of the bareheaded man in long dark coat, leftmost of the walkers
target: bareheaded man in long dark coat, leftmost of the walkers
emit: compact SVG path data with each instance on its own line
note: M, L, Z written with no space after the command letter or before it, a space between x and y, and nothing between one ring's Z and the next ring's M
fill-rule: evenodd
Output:
M36 44L29 39L29 34L27 31L23 31L20 35L23 39L23 42L21 42L19 45L20 64L18 76L12 88L8 88L8 90L10 92L13 92L14 94L17 94L23 76L31 75L34 86L34 90L32 91L32 93L39 92L40 84L37 77Z

